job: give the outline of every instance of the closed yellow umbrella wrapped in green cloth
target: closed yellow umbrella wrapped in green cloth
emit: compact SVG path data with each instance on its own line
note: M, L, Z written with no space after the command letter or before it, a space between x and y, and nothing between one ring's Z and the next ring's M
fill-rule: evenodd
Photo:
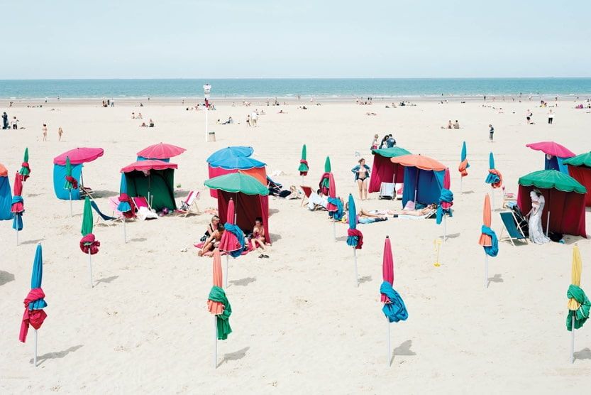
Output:
M570 269L570 286L566 293L568 298L568 315L566 329L570 330L570 362L575 362L575 329L580 329L589 318L591 302L585 295L581 285L582 260L579 247L573 247L573 264Z

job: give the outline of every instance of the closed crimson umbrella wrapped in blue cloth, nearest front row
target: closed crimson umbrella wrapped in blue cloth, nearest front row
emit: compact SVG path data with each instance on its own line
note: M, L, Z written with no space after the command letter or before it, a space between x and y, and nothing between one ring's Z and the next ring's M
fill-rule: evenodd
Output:
M386 236L384 243L384 255L382 258L382 285L380 286L380 296L382 303L382 313L386 316L388 327L388 366L392 361L392 345L390 343L390 323L397 323L409 318L407 306L404 305L402 297L392 288L394 284L394 258L392 256L392 244L390 237Z

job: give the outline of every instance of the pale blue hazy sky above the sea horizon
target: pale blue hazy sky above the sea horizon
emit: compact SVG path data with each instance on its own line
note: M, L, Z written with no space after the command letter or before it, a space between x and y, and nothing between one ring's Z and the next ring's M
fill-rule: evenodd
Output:
M591 77L588 0L0 5L0 79Z

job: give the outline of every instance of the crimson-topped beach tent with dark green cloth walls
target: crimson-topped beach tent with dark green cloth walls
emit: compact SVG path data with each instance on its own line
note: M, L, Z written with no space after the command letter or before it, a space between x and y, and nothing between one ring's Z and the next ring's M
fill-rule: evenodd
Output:
M127 195L143 196L156 211L166 207L175 210L175 163L137 161L121 169L127 185Z

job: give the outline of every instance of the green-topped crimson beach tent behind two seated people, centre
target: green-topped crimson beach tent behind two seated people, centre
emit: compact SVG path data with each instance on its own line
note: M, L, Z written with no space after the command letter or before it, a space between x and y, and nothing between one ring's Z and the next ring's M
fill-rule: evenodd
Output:
M210 178L204 182L207 188L217 191L220 221L228 222L226 213L231 199L236 207L236 222L246 234L255 226L257 217L263 219L265 242L270 243L269 234L269 190L256 178L243 173L229 173Z

